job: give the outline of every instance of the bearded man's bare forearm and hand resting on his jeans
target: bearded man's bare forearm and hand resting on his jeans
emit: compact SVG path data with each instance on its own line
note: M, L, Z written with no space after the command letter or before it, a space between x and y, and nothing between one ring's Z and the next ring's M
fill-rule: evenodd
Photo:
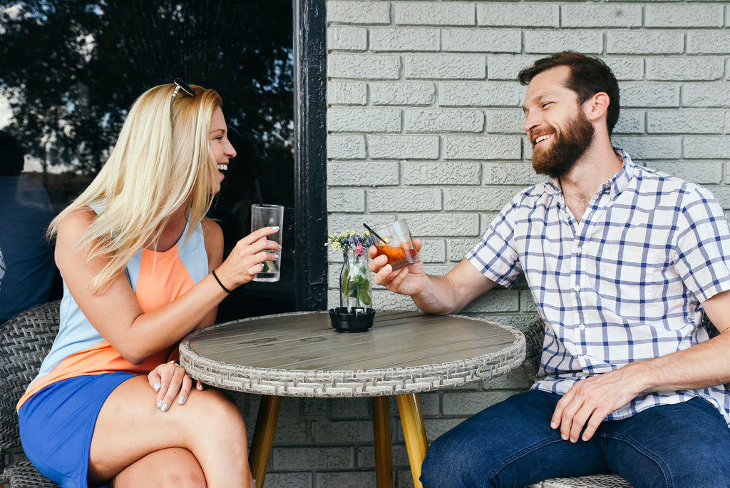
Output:
M701 389L730 383L730 291L702 303L721 332L715 338L683 351L578 381L558 402L550 426L560 427L564 439L577 442L596 432L599 424L642 392Z

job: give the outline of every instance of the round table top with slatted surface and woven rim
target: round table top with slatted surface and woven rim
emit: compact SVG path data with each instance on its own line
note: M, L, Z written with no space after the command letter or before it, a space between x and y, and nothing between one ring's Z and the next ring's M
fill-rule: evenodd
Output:
M217 324L180 343L192 378L284 397L372 397L456 388L522 364L513 327L469 316L377 310L367 332L340 333L327 312Z

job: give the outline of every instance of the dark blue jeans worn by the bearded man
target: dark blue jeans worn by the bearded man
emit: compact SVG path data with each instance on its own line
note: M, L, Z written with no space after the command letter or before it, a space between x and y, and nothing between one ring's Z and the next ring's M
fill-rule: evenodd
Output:
M606 421L590 441L571 443L550 428L559 399L531 390L458 424L426 453L423 487L524 487L610 472L635 488L730 487L730 429L705 400Z

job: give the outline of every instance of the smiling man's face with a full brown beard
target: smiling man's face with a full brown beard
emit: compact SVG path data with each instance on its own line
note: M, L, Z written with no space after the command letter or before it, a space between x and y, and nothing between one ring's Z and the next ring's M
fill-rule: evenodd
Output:
M593 142L593 124L566 88L568 66L557 66L536 75L527 88L525 131L532 144L532 167L560 178L575 165Z

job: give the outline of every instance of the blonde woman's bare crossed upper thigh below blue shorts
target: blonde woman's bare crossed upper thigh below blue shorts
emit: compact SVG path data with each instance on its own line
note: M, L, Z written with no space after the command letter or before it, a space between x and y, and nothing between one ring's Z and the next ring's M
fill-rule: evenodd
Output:
M245 446L245 427L236 405L213 389L193 390L185 404L161 411L147 378L125 381L99 411L89 454L89 479L112 478L154 451L182 447L193 453L201 443Z

